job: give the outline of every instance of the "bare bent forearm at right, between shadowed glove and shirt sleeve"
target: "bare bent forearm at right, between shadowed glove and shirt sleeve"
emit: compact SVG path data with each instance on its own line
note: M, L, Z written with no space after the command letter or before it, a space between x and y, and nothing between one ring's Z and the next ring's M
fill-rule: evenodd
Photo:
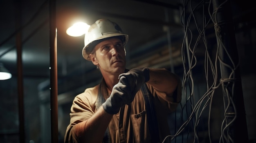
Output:
M172 95L177 88L181 88L180 78L164 68L149 68L149 81L147 83L167 95Z

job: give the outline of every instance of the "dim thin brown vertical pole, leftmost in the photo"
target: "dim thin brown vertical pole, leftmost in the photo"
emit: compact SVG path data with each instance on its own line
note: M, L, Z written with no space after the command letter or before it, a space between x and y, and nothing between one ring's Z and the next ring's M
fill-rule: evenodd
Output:
M21 1L16 0L16 29L21 26ZM19 139L20 143L25 143L24 128L24 96L23 96L23 72L22 72L22 36L21 30L16 33L17 48L17 82L18 82L18 106L19 106Z

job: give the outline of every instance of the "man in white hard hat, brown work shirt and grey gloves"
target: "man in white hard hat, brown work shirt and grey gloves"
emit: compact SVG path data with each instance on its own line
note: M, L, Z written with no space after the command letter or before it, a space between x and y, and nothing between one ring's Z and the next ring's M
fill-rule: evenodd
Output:
M65 143L155 143L170 135L167 115L181 101L181 81L166 69L126 69L127 41L106 19L85 33L83 57L103 78L74 98Z

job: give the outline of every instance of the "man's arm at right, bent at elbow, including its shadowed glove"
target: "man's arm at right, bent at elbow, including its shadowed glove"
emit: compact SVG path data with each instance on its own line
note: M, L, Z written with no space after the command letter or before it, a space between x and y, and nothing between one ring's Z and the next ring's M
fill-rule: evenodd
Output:
M127 73L119 75L122 76L128 79L133 94L146 82L156 90L165 92L169 97L177 96L177 102L181 101L182 84L179 77L164 68L132 68Z

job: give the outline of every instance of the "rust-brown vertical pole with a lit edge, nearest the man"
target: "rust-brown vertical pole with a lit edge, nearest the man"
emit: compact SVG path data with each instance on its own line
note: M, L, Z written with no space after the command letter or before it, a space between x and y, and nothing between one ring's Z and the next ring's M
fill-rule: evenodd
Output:
M56 0L49 0L50 17L50 94L51 94L51 139L58 143L58 81L57 81L57 29Z

